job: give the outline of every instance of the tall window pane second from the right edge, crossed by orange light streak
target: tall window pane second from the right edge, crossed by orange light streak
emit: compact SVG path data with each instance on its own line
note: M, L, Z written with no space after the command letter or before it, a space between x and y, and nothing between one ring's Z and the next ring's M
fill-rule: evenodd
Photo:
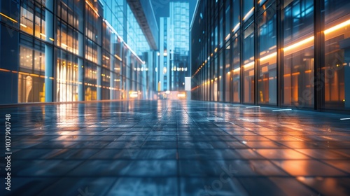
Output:
M283 9L282 104L314 106L314 1L292 1Z

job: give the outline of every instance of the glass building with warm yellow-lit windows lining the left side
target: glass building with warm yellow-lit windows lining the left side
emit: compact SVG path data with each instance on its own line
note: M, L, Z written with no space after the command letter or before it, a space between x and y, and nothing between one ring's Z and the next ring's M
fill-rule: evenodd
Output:
M136 12L150 15L148 22L139 25L146 19ZM149 1L1 1L0 23L1 104L128 99L134 92L146 99L152 91L146 81L158 35L149 29L158 27Z

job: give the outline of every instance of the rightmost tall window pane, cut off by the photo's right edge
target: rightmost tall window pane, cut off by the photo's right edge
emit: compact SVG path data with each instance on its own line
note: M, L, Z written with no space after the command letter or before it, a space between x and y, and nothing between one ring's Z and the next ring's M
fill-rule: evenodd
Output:
M349 42L346 43L350 37L349 9L350 1L325 0L326 109L350 108L350 49Z

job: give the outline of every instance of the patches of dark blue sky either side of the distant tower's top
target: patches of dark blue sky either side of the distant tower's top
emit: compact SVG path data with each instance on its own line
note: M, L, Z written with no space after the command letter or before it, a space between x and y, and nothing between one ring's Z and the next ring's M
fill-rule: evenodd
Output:
M158 22L158 26L159 26L160 17L169 17L169 3L171 1L190 3L190 22L191 22L193 17L193 12L195 11L197 0L151 0L153 11L155 13L155 18L157 19L157 22Z

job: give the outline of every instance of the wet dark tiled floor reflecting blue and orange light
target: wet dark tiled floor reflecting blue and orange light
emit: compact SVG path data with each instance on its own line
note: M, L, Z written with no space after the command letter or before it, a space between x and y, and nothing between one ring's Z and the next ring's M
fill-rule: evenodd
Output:
M350 195L350 114L180 101L0 108L0 195Z

